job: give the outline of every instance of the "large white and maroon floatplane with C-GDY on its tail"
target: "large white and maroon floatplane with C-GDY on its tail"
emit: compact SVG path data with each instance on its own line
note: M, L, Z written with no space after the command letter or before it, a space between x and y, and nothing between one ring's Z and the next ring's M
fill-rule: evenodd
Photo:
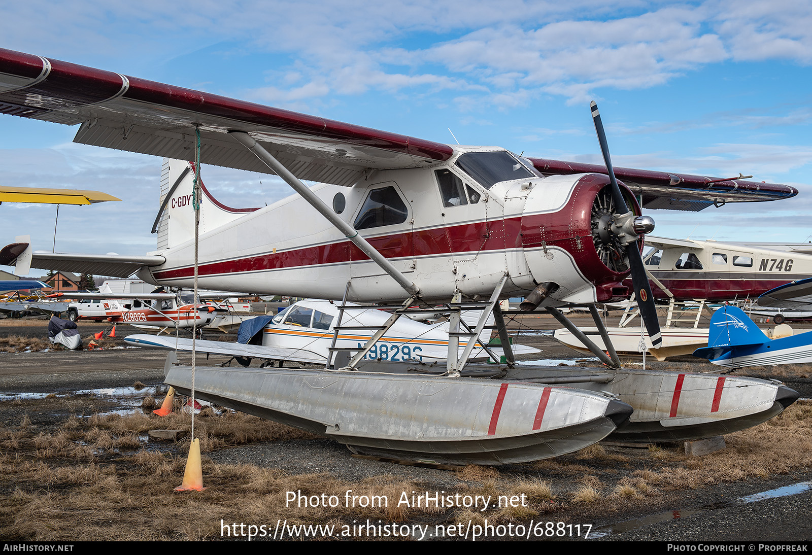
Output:
M0 110L78 124L75 141L84 144L278 174L297 193L231 209L205 196L199 180L179 190L167 176L153 225L157 251L77 256L13 243L0 250L0 264L23 256L45 269L137 273L183 287L197 273L211 289L342 299L334 333L346 331L351 303L391 311L361 348L337 351L319 370L198 367L205 400L324 434L358 454L498 464L568 453L611 432L633 441L709 437L758 424L797 398L771 381L625 370L615 351L594 344L605 368L516 364L499 299L524 297L525 308L571 325L558 308L586 304L597 316L595 303L628 296L629 273L659 345L641 260L654 222L636 196L644 206L692 209L797 194L645 170L618 169L626 182L618 183L594 103L605 167L440 144L10 50L0 50ZM442 372L366 358L401 316L438 305L450 314ZM481 315L465 329L460 313L473 309ZM474 341L460 354L460 338L478 337L490 315L505 364L470 362ZM166 383L192 389L191 368L174 353Z

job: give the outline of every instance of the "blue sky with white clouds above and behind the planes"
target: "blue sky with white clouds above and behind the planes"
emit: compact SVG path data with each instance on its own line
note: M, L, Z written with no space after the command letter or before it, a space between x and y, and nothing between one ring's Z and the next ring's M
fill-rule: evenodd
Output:
M423 139L615 166L788 183L793 200L650 211L655 234L812 240L810 2L30 0L0 47ZM106 191L63 206L56 249L143 254L160 159L72 144L76 129L0 116L5 185ZM204 166L219 200L256 206L279 179ZM2 204L2 243L54 243L54 206Z

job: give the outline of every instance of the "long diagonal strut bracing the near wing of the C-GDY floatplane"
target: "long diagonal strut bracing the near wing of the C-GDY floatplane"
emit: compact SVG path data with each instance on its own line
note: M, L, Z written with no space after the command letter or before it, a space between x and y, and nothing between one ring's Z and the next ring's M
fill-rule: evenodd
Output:
M420 289L404 276L399 269L395 268L389 260L387 260L375 247L361 237L356 230L352 228L347 222L344 222L338 214L333 212L320 198L318 198L313 191L302 183L294 174L292 174L285 166L279 163L262 145L257 143L252 136L248 135L245 131L229 131L229 135L240 141L245 148L257 155L263 164L268 166L275 174L279 175L285 182L293 187L293 190L299 193L304 200L307 200L314 209L317 209L322 216L337 227L347 239L355 243L356 247L360 248L366 256L374 261L375 264L380 266L384 272L388 273L391 277L403 287L410 296L416 296Z

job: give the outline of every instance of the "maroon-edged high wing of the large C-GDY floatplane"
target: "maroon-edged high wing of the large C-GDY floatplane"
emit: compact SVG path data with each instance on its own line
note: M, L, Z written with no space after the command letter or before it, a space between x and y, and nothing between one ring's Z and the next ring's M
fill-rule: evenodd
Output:
M74 141L188 159L201 132L205 163L270 173L228 136L245 131L299 179L351 186L374 169L446 161L447 144L0 49L0 114L80 124ZM531 159L542 174L606 173L603 166ZM711 204L797 195L787 185L616 168L646 208L700 210ZM47 268L47 266L42 266ZM116 274L118 275L118 274Z

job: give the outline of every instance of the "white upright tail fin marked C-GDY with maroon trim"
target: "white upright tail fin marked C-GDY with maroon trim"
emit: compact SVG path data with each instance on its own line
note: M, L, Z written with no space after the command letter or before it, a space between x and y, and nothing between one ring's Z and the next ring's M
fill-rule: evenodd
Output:
M191 162L163 159L161 168L161 209L153 224L158 233L158 250L175 247L195 236L195 213L192 206L194 167ZM200 232L214 230L245 213L257 210L232 209L218 202L205 188L201 180L201 228Z

